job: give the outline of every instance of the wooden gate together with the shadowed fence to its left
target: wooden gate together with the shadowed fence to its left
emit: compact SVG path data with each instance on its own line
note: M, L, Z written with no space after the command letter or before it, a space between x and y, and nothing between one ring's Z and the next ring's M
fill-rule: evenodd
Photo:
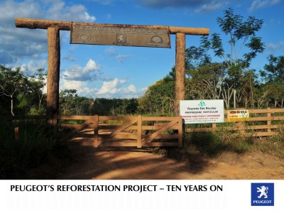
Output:
M90 138L85 145L99 146L177 146L182 147L182 117L165 116L0 116L6 124L16 127L15 136L23 122L43 120L58 141L72 137ZM14 122L13 122L14 121ZM71 122L70 122L71 121ZM18 128L19 126L19 128Z

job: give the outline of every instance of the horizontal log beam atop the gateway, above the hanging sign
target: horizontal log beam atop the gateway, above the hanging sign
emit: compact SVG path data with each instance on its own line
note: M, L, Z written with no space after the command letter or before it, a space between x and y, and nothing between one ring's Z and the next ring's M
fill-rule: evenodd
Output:
M167 29L170 34L184 33L185 35L209 35L209 28L187 28L175 26L143 26L143 25L126 25L126 24L102 24L102 23L77 23L71 21L51 21L33 18L16 18L15 25L17 28L30 29L47 29L49 27L58 27L62 31L70 31L72 24L92 25L95 27L124 27L124 28L148 28L148 29Z

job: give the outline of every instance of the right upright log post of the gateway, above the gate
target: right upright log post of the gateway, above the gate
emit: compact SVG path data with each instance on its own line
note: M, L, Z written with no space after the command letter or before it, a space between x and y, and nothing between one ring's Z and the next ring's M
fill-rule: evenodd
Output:
M180 114L180 100L185 99L185 34L175 38L175 115Z

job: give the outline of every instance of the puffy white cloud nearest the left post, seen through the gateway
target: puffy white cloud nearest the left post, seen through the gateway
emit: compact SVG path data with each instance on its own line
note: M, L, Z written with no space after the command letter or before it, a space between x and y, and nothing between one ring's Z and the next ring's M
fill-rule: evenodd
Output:
M63 71L63 79L76 81L90 81L97 80L100 75L101 67L97 62L90 59L84 67L80 65L72 65L72 67Z

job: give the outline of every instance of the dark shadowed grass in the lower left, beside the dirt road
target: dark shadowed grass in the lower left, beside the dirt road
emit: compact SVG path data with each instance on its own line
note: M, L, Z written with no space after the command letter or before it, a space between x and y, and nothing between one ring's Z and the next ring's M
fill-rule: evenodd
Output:
M14 129L0 123L0 179L25 179L28 170L48 162L62 149L39 121L16 121L13 125L20 126L18 141Z

